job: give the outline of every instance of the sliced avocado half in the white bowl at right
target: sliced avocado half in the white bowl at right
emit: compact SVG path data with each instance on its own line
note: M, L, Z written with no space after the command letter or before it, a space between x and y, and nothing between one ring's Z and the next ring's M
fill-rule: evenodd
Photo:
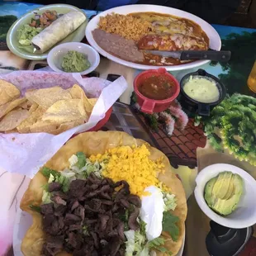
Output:
M244 190L239 174L222 172L206 183L205 200L216 213L227 216L235 211Z

